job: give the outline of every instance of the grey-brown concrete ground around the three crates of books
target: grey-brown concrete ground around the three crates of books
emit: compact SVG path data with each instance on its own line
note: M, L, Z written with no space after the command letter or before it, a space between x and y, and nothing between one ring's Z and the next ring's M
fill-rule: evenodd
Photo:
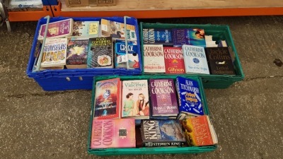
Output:
M206 89L219 139L212 153L115 158L283 158L283 16L144 20L226 24L244 81ZM112 158L88 155L90 90L45 92L25 74L35 22L0 28L0 158Z

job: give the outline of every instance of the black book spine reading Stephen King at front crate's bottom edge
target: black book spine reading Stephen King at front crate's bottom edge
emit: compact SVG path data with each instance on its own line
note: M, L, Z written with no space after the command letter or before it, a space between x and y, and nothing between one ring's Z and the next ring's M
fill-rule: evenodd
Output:
M143 147L185 146L185 141L143 141Z

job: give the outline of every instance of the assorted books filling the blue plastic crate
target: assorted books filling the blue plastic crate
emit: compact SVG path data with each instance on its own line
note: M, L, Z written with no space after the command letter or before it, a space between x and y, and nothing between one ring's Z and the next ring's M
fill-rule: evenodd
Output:
M134 25L112 20L74 21L72 18L40 26L34 69L125 68L139 69L137 35ZM125 38L127 37L127 45ZM126 48L127 46L127 48ZM127 50L127 52L126 52ZM38 60L39 56L42 57Z

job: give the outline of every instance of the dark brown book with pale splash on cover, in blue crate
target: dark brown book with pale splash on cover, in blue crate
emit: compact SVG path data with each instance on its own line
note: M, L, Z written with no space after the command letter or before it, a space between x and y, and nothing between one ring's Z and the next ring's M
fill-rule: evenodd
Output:
M88 56L88 40L69 40L67 46L67 69L86 68Z

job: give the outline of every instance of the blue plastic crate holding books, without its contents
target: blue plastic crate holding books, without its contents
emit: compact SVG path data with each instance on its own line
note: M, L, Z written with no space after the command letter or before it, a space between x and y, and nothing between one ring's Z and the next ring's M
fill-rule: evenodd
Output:
M50 23L64 20L69 17L55 17L50 18ZM74 20L91 21L101 18L73 18ZM107 17L104 19L117 21L124 23L123 17ZM37 37L40 30L40 25L47 23L47 19L41 18L38 20L37 28L35 30L35 36L33 39L33 45L30 49L30 59L28 60L28 67L26 73L28 77L34 78L34 80L42 87L43 90L76 90L76 89L92 89L93 76L132 76L141 75L142 64L139 69L62 69L62 70L44 70L33 72L33 64L35 61L35 52L37 46ZM127 24L134 25L136 27L137 35L137 47L139 54L139 61L141 61L141 52L139 44L139 27L136 18L127 18Z

